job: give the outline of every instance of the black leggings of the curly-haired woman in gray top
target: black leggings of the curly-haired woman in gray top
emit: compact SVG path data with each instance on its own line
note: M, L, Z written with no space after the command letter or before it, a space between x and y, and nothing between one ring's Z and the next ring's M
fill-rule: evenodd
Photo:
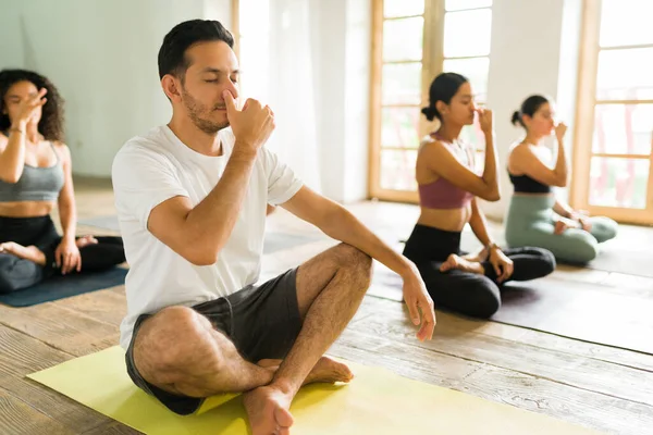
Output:
M79 249L82 273L109 269L125 261L120 237L96 237L95 245ZM0 293L11 293L40 283L56 274L54 251L61 241L50 216L3 217L0 216L0 243L14 241L22 246L36 246L46 256L46 265L0 252ZM76 272L73 272L76 273Z

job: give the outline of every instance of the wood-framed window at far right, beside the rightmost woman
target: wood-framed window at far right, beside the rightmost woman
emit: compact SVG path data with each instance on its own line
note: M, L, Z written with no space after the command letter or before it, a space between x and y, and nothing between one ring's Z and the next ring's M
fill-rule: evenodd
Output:
M653 2L586 2L572 201L653 223Z

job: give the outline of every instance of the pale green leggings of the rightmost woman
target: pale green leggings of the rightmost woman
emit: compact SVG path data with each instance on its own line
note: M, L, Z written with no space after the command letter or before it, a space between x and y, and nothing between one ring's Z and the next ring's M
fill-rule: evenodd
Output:
M590 217L590 232L567 228L554 234L554 203L553 195L514 195L506 219L508 246L534 246L551 251L562 262L587 263L599 254L599 244L617 235L617 223L608 217Z

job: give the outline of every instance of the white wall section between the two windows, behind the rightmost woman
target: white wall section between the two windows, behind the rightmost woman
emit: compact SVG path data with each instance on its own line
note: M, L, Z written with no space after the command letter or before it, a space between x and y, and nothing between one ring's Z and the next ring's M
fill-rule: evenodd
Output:
M486 214L503 219L513 191L507 172L508 148L522 132L510 116L531 94L558 101L558 113L574 123L580 0L494 0L488 107L494 112L502 200L484 203ZM571 142L570 133L567 144Z

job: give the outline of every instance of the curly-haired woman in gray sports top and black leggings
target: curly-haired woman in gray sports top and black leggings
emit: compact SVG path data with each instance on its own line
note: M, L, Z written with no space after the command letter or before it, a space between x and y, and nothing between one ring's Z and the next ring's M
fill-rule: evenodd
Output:
M32 71L1 71L0 293L125 261L120 237L75 237L71 153L62 140L54 85ZM50 219L56 204L63 236Z

